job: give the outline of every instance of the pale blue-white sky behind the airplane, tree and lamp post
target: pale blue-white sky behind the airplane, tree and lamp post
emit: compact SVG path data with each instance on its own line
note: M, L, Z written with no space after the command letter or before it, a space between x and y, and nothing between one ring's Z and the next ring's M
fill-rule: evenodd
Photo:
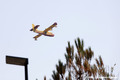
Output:
M55 37L34 41L32 24L44 30L54 22ZM6 55L29 58L29 80L51 78L58 60L65 62L67 41L74 44L77 37L120 73L119 0L1 0L0 25L1 80L24 80L24 67L6 64Z

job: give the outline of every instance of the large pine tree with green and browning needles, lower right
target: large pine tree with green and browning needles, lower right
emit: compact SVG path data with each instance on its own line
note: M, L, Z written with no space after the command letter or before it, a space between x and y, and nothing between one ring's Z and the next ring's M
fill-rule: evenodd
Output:
M77 52L74 52L74 46L68 42L66 47L65 59L66 63L63 64L60 60L56 65L56 71L53 71L53 80L101 80L98 77L111 77L113 76L113 67L111 73L107 72L102 57L96 58L95 64L91 64L94 57L94 52L89 47L84 49L84 42L77 38L75 40L75 47ZM93 77L87 78L87 77ZM105 80L112 80L106 78Z

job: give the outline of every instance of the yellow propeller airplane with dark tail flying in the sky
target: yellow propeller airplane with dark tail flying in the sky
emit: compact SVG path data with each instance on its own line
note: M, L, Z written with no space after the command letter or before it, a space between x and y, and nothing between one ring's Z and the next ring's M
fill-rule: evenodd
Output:
M38 33L38 35L36 35L35 37L33 37L35 40L37 40L38 37L40 37L41 35L44 35L44 36L49 36L49 37L54 37L54 34L51 33L51 32L48 32L50 30L52 30L53 27L56 27L57 26L57 23L55 22L54 24L52 24L50 27L46 28L44 31L40 31L38 30L37 28L39 27L40 25L34 25L32 24L32 29L30 29L30 31L33 31L35 33Z

